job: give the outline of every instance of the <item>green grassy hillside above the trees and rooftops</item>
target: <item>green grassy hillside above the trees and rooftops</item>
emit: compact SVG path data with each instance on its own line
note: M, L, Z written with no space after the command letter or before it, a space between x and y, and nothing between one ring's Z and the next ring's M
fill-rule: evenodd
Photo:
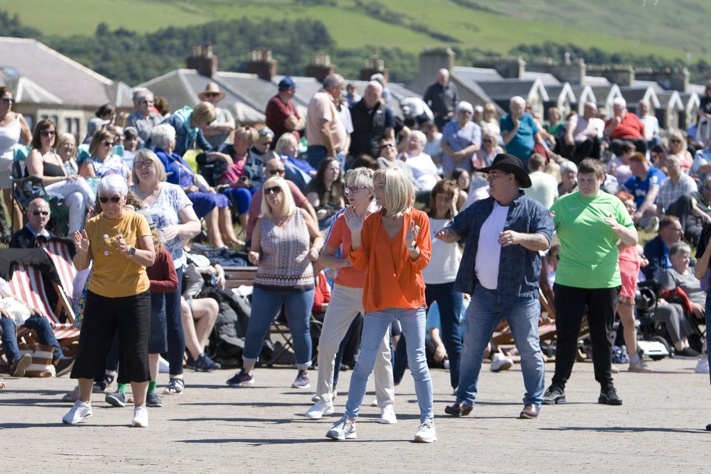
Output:
M0 0L0 9L58 36L92 35L101 22L145 33L242 16L310 18L326 25L339 48L418 53L456 45L508 53L521 43L552 41L711 59L708 0Z

